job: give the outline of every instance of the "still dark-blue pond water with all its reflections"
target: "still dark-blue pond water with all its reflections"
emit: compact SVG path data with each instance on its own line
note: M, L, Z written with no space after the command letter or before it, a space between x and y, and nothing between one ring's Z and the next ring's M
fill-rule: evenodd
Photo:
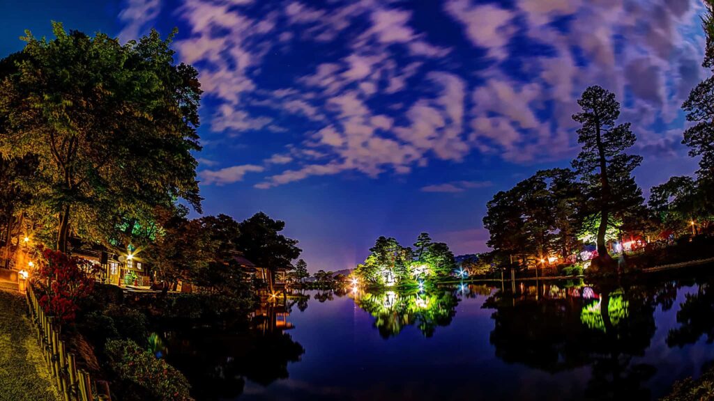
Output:
M169 339L198 400L656 400L714 360L714 275L309 291Z

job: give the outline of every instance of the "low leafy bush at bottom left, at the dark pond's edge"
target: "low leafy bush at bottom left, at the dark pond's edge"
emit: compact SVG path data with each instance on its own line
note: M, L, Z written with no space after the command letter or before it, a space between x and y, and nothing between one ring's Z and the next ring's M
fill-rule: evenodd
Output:
M181 372L131 340L106 342L109 366L121 380L141 387L152 400L191 401L191 386Z

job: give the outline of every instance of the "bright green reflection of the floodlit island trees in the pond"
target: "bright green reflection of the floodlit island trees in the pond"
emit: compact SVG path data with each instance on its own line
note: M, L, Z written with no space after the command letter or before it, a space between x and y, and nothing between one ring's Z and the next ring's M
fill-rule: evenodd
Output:
M379 291L351 294L356 305L375 318L383 338L394 337L403 328L416 325L426 337L438 326L447 326L456 315L458 298L451 289L428 291Z

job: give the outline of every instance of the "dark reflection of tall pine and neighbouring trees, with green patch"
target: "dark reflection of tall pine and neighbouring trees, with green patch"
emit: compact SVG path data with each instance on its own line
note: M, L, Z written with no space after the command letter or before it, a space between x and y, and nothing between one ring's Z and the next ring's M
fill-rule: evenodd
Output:
M491 344L506 362L547 372L589 365L588 397L648 400L655 368L632 358L650 345L655 305L642 288L545 285L498 291L483 308L494 309Z

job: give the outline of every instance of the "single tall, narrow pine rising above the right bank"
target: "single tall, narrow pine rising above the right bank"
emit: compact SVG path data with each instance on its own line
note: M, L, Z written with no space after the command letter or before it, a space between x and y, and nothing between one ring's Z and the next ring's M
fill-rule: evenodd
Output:
M573 120L580 123L578 143L582 143L583 149L573 161L573 168L587 186L590 210L600 215L596 237L598 254L603 260L609 260L605 233L610 215L624 215L628 207L643 202L641 191L631 176L642 158L624 153L634 145L636 138L630 123L615 123L620 117L620 103L615 101L614 93L600 86L590 86L578 99L578 105L582 111L573 115Z

